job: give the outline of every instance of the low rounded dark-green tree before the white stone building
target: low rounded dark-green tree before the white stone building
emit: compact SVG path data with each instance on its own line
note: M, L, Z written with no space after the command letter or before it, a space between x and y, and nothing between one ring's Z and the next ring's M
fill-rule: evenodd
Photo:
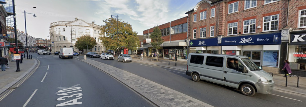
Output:
M76 41L75 46L76 46L76 48L78 48L80 50L90 49L90 48L93 48L95 45L97 45L95 38L93 38L91 36L86 36L85 35L85 36L78 37L76 39L77 39L77 41Z

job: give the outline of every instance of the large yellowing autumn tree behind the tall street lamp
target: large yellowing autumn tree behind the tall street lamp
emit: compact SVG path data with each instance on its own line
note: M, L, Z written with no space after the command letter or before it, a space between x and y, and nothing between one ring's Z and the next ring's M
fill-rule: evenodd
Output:
M117 27L117 19L115 18L109 18L103 20L103 22L105 24L102 25L101 30L102 32L106 33L106 36L99 38L102 40L101 43L106 49L117 50L117 46L128 47L129 49L134 49L137 47L135 47L135 45L137 45L139 39L137 38L137 33L133 31L131 24L118 20ZM130 42L134 40L137 42Z

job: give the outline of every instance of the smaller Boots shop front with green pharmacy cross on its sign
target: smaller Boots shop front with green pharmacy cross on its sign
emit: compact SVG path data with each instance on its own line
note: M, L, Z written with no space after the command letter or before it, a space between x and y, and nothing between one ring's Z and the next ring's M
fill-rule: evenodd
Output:
M196 52L199 52L199 53L218 54L220 46L218 46L217 41L218 41L217 37L190 40L189 46L191 49L195 48Z

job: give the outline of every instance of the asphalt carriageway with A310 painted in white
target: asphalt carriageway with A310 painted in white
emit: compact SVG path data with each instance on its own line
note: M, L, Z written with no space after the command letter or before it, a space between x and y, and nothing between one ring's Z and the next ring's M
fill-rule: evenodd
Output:
M32 57L40 60L39 68L1 100L0 107L154 106L103 71L76 58L37 54Z

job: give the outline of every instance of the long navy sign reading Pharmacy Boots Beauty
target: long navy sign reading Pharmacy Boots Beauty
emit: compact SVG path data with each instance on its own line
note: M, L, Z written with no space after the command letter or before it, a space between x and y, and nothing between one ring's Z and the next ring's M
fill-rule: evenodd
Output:
M281 44L281 33L249 36L222 37L222 46L232 45L276 45Z

